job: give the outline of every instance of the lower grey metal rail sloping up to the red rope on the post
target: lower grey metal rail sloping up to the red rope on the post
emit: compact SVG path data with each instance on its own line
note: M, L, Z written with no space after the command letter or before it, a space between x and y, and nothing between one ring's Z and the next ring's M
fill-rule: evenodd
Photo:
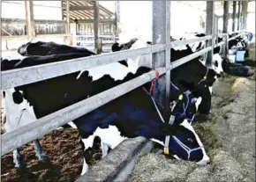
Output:
M166 72L165 68L157 69L160 75ZM156 71L150 71L149 73L138 76L124 84L109 89L108 91L102 91L101 93L93 96L92 98L86 98L72 106L65 107L55 113L51 113L39 120L35 120L26 126L19 127L9 133L2 136L2 150L1 156L7 154L13 149L17 149L27 142L31 142L43 135L48 134L50 131L61 127L64 124L75 120L82 115L85 115L94 109L105 105L111 100L118 98L125 93L138 88L142 84L154 79Z

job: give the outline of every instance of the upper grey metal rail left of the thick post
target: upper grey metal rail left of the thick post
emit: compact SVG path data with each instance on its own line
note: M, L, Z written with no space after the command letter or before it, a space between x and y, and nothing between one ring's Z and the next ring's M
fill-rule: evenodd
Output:
M22 69L2 71L2 90L23 84L31 84L51 77L63 76L79 70L92 69L139 55L148 55L162 50L165 50L164 45L154 45L151 47L66 60L64 62L52 62Z

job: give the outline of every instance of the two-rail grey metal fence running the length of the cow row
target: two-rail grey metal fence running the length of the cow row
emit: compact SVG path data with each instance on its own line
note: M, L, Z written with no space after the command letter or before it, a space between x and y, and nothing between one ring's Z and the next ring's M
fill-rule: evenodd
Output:
M209 39L212 39L212 36L206 36L193 40L177 40L168 44L153 45L150 47L124 50L104 55L94 55L85 58L67 60L64 62L53 62L23 69L7 70L1 73L2 90L23 84L31 84L41 80L49 79L51 77L63 76L83 69L91 69L112 62L126 60L131 57L137 57L139 55L153 54L156 52L164 51L170 47L177 47L180 45ZM225 44L225 42L222 44L221 43L215 46L221 46L222 44ZM212 46L206 47L192 55L187 55L177 60L176 62L171 62L168 69L166 67L161 67L157 68L157 70L161 75L165 74L170 69L175 69L185 62L191 61L193 58L206 54L213 48L214 47ZM19 148L27 142L31 142L34 139L41 137L42 135L48 134L50 131L56 129L57 127L61 127L71 120L79 118L80 116L89 113L100 106L103 106L109 101L118 98L143 84L146 84L147 82L154 79L155 76L155 72L150 71L149 73L138 76L124 84L117 85L108 91L102 91L101 93L94 95L91 98L84 99L79 103L65 107L62 110L51 113L39 120L35 120L34 122L27 124L26 126L19 127L9 133L2 135L1 156L13 149Z

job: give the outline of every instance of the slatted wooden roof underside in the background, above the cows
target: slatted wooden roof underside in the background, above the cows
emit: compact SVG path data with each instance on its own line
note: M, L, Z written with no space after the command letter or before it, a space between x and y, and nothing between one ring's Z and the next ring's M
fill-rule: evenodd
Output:
M94 2L93 1L69 1L70 3L70 19L78 20L78 22L94 21ZM115 19L115 13L100 6L100 21L112 21ZM66 1L62 1L63 15L66 17Z

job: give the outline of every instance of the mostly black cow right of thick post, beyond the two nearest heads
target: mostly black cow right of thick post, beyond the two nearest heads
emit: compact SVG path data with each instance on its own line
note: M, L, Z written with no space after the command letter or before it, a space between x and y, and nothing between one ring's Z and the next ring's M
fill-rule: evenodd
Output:
M127 49L129 47L125 47L125 45L131 45L134 40L136 39L121 45L115 43L112 46L112 51L116 52ZM148 41L147 44L151 44L151 42ZM185 48L178 48L171 48L171 62L177 61L177 59L193 53L191 47L188 45L186 45ZM217 77L220 76L220 74L216 73L215 70L220 70L220 67L222 69L222 64L216 65L216 68L215 66L207 68L202 64L202 62L200 62L200 57L198 57L191 62L186 62L176 69L171 70L170 82L172 83L171 85L177 85L177 88L183 87L182 91L193 91L193 94L196 94L197 97L202 97L203 100L199 111L200 113L208 114L211 108L211 88Z

